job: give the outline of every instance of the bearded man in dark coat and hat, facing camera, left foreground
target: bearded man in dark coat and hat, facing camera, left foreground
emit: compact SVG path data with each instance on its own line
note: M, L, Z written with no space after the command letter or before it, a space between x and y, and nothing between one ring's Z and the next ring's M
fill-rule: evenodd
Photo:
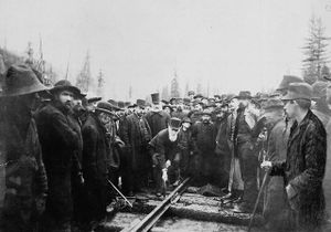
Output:
M49 178L44 231L71 231L73 213L72 167L78 167L82 140L71 123L72 102L81 91L68 81L51 89L53 99L36 114L36 125ZM74 173L79 176L82 173Z

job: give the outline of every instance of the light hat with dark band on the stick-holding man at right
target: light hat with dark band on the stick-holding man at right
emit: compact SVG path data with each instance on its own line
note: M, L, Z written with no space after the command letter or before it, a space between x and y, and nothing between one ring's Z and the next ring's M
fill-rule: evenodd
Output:
M308 83L291 83L288 87L287 94L281 97L282 101L292 99L312 99L312 87Z

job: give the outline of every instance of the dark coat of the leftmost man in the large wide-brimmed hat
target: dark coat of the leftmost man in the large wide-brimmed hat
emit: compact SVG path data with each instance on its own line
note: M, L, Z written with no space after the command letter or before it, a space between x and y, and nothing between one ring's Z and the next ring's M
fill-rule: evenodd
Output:
M1 127L1 144L6 157L4 231L32 231L36 219L35 202L47 192L47 178L34 119L21 131L13 118ZM2 177L1 177L2 178ZM1 189L2 191L2 189ZM0 223L0 224L1 224ZM1 225L0 225L1 228Z

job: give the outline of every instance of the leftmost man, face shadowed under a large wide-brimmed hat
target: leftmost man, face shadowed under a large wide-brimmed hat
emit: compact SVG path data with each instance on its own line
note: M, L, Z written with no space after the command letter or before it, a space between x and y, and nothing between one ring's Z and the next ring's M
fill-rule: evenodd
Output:
M2 112L0 136L0 152L6 158L1 167L6 168L6 188L1 189L4 205L0 231L35 231L44 210L47 178L32 116L35 93L44 89L30 67L9 67L1 96L6 97L7 109Z

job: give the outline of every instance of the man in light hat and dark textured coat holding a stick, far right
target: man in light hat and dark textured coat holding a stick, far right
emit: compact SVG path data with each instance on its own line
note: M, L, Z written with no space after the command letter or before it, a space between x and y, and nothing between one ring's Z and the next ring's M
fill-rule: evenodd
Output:
M324 218L324 178L327 133L310 110L312 88L307 83L292 83L282 97L288 117L295 118L290 130L286 161L264 161L270 176L284 176L289 205L297 231L320 231Z

